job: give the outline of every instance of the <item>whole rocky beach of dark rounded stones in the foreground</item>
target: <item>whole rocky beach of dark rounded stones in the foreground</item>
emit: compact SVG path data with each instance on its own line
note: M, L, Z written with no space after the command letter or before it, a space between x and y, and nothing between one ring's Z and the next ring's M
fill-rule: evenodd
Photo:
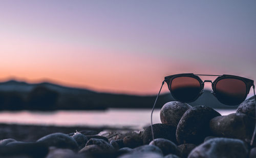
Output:
M1 157L256 157L251 97L237 111L168 102L162 123L143 130L0 124Z

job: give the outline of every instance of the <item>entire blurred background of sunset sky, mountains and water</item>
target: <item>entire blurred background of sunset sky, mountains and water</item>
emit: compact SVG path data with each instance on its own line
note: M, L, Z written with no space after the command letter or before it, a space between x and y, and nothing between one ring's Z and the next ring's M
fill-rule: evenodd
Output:
M255 1L1 1L0 122L141 127L164 76L256 80L255 17ZM191 105L235 110L210 91Z

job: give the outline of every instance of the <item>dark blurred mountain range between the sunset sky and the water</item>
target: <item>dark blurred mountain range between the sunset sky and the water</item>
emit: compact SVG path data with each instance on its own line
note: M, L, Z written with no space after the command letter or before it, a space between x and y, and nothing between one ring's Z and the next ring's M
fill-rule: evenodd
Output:
M156 96L99 93L89 89L61 86L42 82L29 84L10 80L0 83L0 109L56 110L56 109L106 109L152 108ZM170 93L159 96L156 107L174 101ZM221 104L209 91L191 106L206 105L213 108L236 108Z

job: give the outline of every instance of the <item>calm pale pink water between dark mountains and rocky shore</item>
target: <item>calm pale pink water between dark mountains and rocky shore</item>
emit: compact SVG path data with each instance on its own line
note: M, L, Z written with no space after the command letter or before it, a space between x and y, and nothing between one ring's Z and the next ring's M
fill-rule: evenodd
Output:
M216 109L221 115L235 109ZM109 109L106 111L59 110L55 112L1 111L0 123L44 124L57 126L113 126L142 128L150 124L151 109ZM153 115L153 123L161 123L160 109Z

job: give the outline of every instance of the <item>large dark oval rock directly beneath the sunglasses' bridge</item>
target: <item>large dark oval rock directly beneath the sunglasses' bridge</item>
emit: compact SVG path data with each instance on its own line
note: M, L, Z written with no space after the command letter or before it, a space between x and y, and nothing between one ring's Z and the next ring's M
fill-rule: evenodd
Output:
M177 126L178 143L202 143L205 137L210 136L209 121L217 116L221 116L219 112L203 105L188 109Z

